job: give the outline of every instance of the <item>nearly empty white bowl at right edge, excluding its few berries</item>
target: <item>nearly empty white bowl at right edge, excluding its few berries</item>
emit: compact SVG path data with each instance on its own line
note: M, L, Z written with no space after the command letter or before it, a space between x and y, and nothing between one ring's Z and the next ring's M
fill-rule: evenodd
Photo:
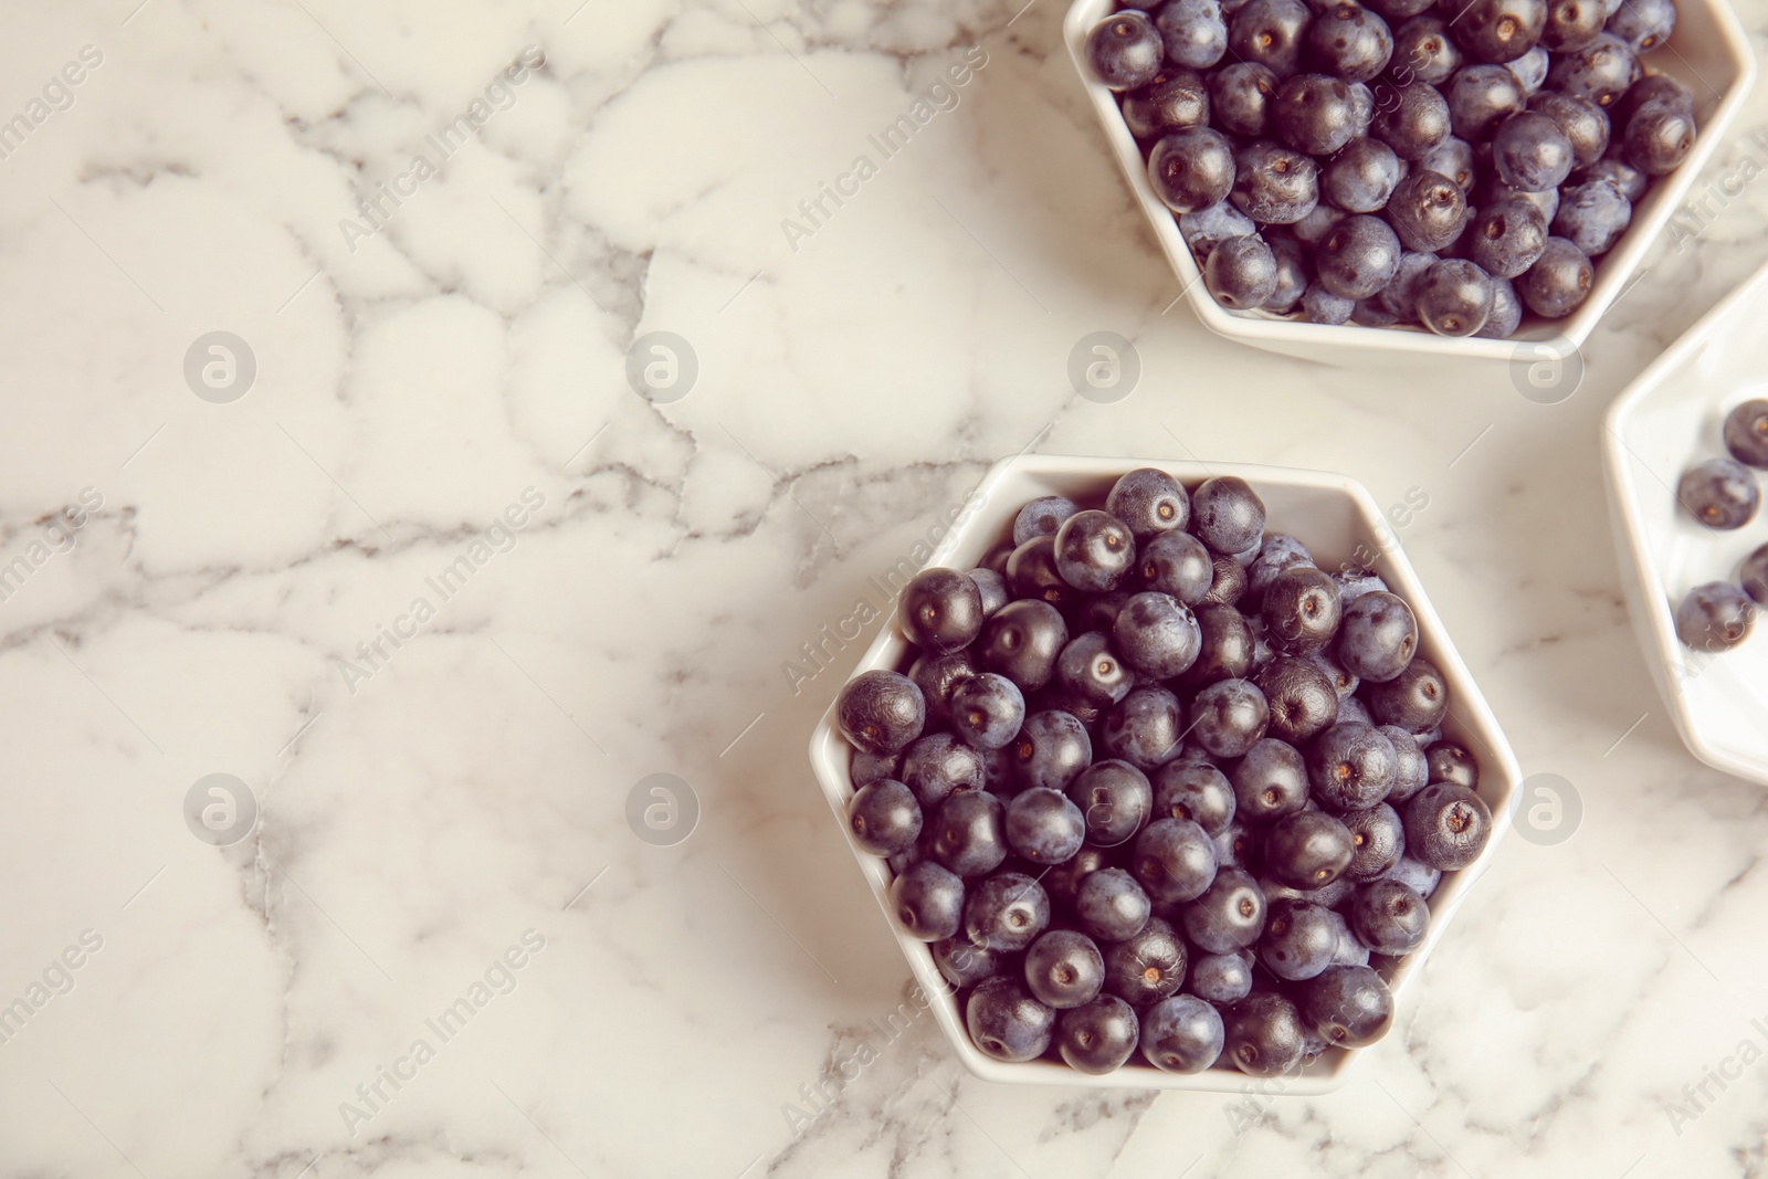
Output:
M1768 516L1715 534L1680 511L1674 491L1683 470L1726 456L1726 414L1750 398L1768 398L1768 267L1614 401L1604 474L1627 608L1676 730L1708 765L1768 785L1768 620L1720 656L1676 638L1676 603L1703 582L1736 580L1768 543Z

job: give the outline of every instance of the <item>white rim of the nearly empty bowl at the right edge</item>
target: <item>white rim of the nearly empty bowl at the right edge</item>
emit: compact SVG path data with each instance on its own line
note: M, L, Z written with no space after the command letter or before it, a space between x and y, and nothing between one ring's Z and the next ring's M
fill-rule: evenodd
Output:
M1738 757L1713 744L1696 723L1688 696L1678 689L1688 666L1687 649L1676 636L1676 615L1671 608L1669 585L1650 559L1648 529L1639 514L1639 479L1634 465L1641 463L1627 445L1632 417L1678 373L1713 341L1718 327L1740 309L1768 299L1768 263L1718 300L1676 343L1665 348L1614 399L1602 419L1604 475L1609 490L1609 514L1614 525L1616 559L1627 582L1628 613L1644 649L1646 665L1657 684L1658 696L1669 709L1671 721L1681 742L1713 769L1726 771L1752 783L1768 785L1768 762ZM1717 398L1715 398L1717 399Z

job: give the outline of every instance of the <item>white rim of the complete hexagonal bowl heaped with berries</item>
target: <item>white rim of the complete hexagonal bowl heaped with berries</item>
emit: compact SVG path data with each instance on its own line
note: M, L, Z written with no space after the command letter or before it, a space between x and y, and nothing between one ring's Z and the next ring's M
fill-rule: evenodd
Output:
M1059 454L1020 454L1004 458L988 468L967 502L987 502L995 491L999 491L1001 484L1017 472L1025 472L1033 477L1084 475L1096 477L1105 483L1137 467L1156 467L1167 470L1179 481L1192 486L1213 475L1239 475L1255 488L1259 484L1266 484L1312 490L1321 495L1342 495L1349 500L1361 527L1374 530L1376 523L1384 520L1368 490L1349 475L1257 463L1202 463L1193 460L1181 461L1160 458L1096 458ZM974 520L948 532L928 555L923 567L934 567L949 560L949 557L969 539L971 527L974 527ZM1383 578L1388 580L1388 585L1393 587L1397 594L1406 597L1407 605L1413 608L1413 613L1418 619L1420 635L1425 638L1425 643L1420 645L1420 654L1429 650L1430 661L1436 663L1444 679L1450 682L1452 700L1457 702L1459 714L1455 711L1450 712L1455 732L1467 734L1480 742L1480 746L1483 746L1480 794L1492 806L1490 841L1475 864L1446 875L1443 884L1430 896L1430 932L1427 933L1425 942L1406 956L1404 965L1395 970L1393 979L1390 981L1395 1011L1398 1013L1400 1004L1406 1002L1411 993L1413 983L1423 972L1425 962L1434 951L1437 940L1443 937L1444 930L1453 921L1455 912L1464 903L1467 891L1490 868L1496 847L1503 841L1505 834L1508 834L1513 811L1522 801L1522 772L1517 765L1515 753L1512 753L1510 742L1497 723L1497 718L1492 714L1490 705L1473 679L1473 673L1467 670L1466 661L1450 640L1448 629L1444 628L1436 608L1430 605L1429 594L1425 594L1423 583L1418 580L1404 548L1395 544L1391 550L1381 551L1381 557L1372 564L1372 567L1379 571ZM909 650L909 642L896 631L895 626L895 606L891 606L886 613L888 617L884 626L866 647L866 652L859 658L857 665L849 673L849 679L879 666L895 668L902 663L902 656ZM843 684L845 682L847 681L843 681ZM838 691L840 689L836 689L836 698ZM891 916L888 896L891 873L886 861L879 856L872 856L854 843L852 833L847 829L845 802L854 792L849 767L850 748L836 730L834 705L836 700L831 698L810 737L810 762L817 774L817 783L822 787L824 797L834 813L836 825L842 829L842 836L847 841L847 848L859 864L861 875L866 879L891 935L903 951L916 983L930 1000L935 1022L946 1034L946 1039L956 1052L958 1059L974 1076L997 1084L1043 1084L1087 1089L1181 1089L1231 1094L1255 1092L1261 1096L1317 1096L1344 1085L1349 1068L1363 1052L1370 1050L1333 1048L1301 1073L1280 1078L1254 1078L1229 1069L1165 1073L1140 1062L1133 1062L1133 1066L1126 1064L1114 1073L1091 1076L1047 1059L1010 1064L983 1055L971 1043L969 1032L964 1027L962 1015L956 1008L955 992L934 965L930 946L903 933ZM1487 790L1485 787L1489 783L1496 788Z

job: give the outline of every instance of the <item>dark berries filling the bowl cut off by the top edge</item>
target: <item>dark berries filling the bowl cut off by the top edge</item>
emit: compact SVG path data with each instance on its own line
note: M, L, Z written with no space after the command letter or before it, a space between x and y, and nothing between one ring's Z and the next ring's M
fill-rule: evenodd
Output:
M1674 0L1124 0L1087 37L1234 311L1508 338L1694 148Z

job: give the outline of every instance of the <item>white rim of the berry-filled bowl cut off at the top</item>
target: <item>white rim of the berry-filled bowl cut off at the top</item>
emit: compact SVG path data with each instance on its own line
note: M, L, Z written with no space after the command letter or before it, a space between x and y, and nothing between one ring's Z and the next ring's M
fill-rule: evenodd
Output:
M1676 210L1687 200L1688 191L1701 175L1701 170L1726 138L1726 129L1743 108L1743 101L1749 97L1749 92L1756 83L1757 71L1749 34L1745 32L1741 19L1738 19L1738 14L1729 4L1724 4L1724 0L1703 0L1703 11L1708 12L1717 27L1718 42L1729 58L1733 69L1731 85L1722 94L1706 124L1701 127L1701 134L1696 136L1694 150L1688 154L1688 159L1685 159L1669 175L1657 179L1657 191L1653 193L1655 203L1650 216L1644 221L1630 224L1619 244L1604 255L1598 265L1597 286L1584 300L1584 306L1570 316L1558 320L1556 329L1536 327L1533 331L1519 332L1508 339L1483 339L1475 336L1448 338L1436 336L1427 331L1370 329L1353 323L1308 323L1303 320L1285 320L1259 313L1236 313L1222 308L1202 285L1202 269L1197 265L1190 246L1179 233L1177 217L1155 194L1155 189L1147 180L1147 168L1142 163L1142 148L1137 145L1135 136L1130 134L1130 127L1123 118L1121 108L1117 106L1116 94L1112 94L1105 83L1094 80L1087 69L1087 32L1110 11L1114 11L1114 0L1073 0L1068 7L1066 18L1063 19L1063 39L1068 44L1068 55L1075 65L1075 72L1080 76L1080 85L1093 99L1093 108L1100 117L1105 138L1110 143L1112 154L1117 157L1124 180L1130 184L1135 202L1142 207L1142 214L1147 217L1155 237L1160 240L1167 263L1172 267L1183 286L1181 295L1192 304L1192 311L1197 318L1218 336L1261 346L1282 345L1285 348L1299 348L1312 345L1322 354L1337 350L1381 350L1391 355L1409 357L1413 361L1439 355L1515 361L1522 355L1528 355L1528 359L1538 359L1540 354L1536 348L1542 345L1549 345L1561 354L1582 348L1602 316L1607 315L1609 308L1612 308L1619 295L1627 290L1628 279L1639 270L1646 253L1651 251L1657 239L1676 216ZM1680 27L1678 32L1681 32ZM1671 34L1671 41L1664 48L1674 51L1674 41L1676 34ZM1524 348L1528 350L1526 354Z

